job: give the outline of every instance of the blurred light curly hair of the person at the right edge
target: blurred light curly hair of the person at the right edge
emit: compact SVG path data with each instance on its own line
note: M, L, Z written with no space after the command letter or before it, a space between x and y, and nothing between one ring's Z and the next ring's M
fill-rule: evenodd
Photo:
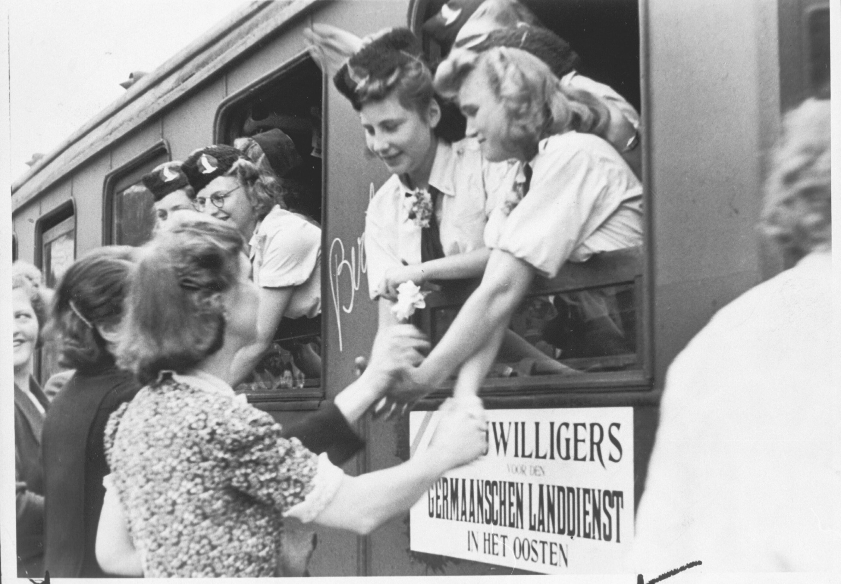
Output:
M829 111L808 99L786 113L771 157L759 228L793 259L832 242Z

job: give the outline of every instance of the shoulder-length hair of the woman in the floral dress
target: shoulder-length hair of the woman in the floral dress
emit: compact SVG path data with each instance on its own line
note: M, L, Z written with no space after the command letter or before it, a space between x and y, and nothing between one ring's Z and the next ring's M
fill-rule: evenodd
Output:
M141 383L186 373L225 340L221 294L240 275L244 242L231 225L185 211L141 250L119 343L119 366Z

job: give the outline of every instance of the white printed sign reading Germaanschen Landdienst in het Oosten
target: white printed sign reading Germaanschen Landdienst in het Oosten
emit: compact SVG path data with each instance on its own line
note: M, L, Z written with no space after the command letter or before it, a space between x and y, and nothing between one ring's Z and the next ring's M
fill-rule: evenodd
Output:
M488 454L410 512L410 548L545 574L618 569L633 538L633 408L489 410ZM412 455L438 414L410 414Z

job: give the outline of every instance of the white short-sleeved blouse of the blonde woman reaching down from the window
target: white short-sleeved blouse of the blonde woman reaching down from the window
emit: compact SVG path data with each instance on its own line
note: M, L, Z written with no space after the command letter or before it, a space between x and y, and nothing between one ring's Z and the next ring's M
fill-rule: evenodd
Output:
M531 188L494 209L485 245L554 277L567 260L641 245L643 186L621 156L593 134L542 140Z

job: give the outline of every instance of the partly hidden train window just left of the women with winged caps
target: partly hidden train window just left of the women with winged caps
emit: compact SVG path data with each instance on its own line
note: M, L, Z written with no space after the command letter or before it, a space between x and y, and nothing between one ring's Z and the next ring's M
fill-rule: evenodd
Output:
M143 245L151 239L155 199L141 178L167 160L167 146L159 142L106 176L104 244Z

